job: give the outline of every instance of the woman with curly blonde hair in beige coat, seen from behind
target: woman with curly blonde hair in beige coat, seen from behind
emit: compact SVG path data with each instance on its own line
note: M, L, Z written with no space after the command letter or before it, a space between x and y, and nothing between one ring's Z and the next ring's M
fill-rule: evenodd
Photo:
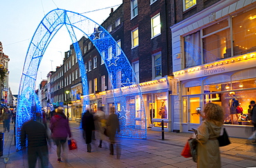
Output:
M223 109L218 104L208 103L203 110L203 123L196 133L197 167L221 167L219 142L217 138L223 125Z

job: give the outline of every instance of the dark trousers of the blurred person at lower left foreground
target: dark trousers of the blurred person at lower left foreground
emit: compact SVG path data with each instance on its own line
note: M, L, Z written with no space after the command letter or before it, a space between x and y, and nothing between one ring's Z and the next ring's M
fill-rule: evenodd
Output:
M37 163L37 158L39 158L42 168L48 167L49 158L48 158L47 145L42 147L28 148L28 167L29 168L35 168L35 165Z

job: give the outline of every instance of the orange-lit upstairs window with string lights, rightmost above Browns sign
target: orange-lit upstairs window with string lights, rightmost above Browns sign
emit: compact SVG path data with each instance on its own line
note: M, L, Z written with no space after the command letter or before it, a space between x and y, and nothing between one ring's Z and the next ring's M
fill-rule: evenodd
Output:
M256 50L256 8L232 16L234 55Z

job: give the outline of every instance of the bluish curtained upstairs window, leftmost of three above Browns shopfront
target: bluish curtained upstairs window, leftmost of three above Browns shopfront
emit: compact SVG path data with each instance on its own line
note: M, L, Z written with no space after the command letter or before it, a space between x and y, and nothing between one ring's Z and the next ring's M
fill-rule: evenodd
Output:
M184 37L185 68L201 65L200 32Z

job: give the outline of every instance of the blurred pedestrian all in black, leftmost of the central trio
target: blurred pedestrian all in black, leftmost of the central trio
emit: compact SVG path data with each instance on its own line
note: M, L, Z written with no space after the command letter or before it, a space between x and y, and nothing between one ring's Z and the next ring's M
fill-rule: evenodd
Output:
M91 139L95 130L93 114L86 110L82 115L82 129L84 130L84 139L87 144L87 152L91 152Z

